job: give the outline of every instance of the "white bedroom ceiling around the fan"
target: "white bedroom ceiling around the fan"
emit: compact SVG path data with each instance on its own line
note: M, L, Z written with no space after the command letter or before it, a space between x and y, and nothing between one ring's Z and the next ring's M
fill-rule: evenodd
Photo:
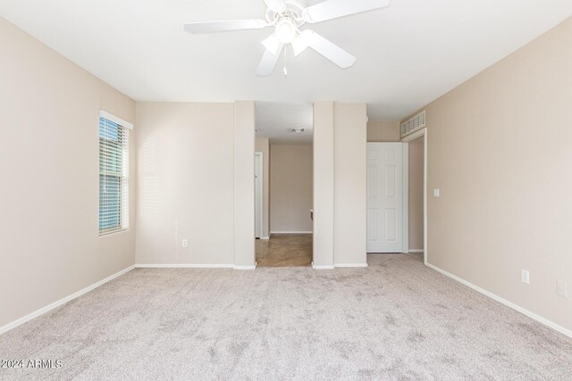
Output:
M0 1L0 16L138 101L365 102L370 120L399 120L433 101L567 19L572 1L393 0L385 10L303 27L357 63L341 70L313 51L295 60L289 51L288 78L281 70L255 75L271 29L182 30L187 21L264 12L262 0Z

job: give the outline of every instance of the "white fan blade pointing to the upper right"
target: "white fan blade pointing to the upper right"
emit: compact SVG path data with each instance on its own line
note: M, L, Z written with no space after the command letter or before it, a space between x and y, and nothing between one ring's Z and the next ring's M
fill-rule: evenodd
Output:
M351 14L374 11L390 6L391 0L326 0L304 10L306 21L310 23L328 21Z

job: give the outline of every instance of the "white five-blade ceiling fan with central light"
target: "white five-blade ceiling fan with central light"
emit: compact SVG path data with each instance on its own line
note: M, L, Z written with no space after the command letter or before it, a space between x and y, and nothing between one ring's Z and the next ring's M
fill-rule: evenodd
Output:
M391 0L325 0L322 3L304 8L296 0L264 0L266 20L228 20L189 22L185 30L191 34L202 34L243 29L264 29L272 27L272 35L262 41L266 51L258 65L257 75L269 76L273 73L284 46L291 45L294 55L298 56L308 47L340 66L349 68L356 62L356 57L340 46L332 44L312 30L300 30L306 24L329 21L351 14L385 8Z

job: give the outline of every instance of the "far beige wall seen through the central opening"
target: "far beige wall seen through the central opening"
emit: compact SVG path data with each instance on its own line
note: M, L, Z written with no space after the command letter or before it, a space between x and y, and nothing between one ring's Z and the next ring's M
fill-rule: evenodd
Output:
M271 145L270 227L272 232L311 232L312 145Z

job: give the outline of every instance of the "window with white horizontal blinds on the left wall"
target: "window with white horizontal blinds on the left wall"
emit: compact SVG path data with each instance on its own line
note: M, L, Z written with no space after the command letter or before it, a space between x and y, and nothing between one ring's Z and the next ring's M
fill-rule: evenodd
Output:
M129 128L99 118L99 235L129 227Z

